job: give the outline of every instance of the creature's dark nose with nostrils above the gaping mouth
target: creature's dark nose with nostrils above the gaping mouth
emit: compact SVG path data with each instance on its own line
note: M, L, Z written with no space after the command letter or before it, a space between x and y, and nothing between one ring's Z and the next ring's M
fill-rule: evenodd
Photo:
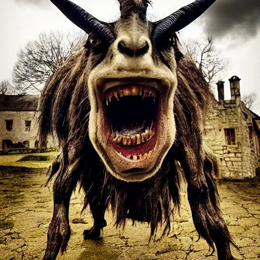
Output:
M122 54L126 54L127 56L142 56L149 50L149 43L147 41L139 43L126 43L124 40L121 40L118 45L118 50Z

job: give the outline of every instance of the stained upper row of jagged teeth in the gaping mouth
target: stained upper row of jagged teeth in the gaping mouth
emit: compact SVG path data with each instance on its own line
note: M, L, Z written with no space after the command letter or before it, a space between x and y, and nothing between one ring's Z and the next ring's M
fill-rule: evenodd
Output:
M114 89L112 90L108 95L107 95L107 105L109 102L111 102L111 99L113 96L119 101L118 96L122 98L122 96L128 96L128 95L141 95L143 99L146 96L151 96L153 99L153 102L155 102L156 94L153 90L148 90L143 87L138 87L138 86L131 86L131 87L125 87L125 88L119 88L119 89Z

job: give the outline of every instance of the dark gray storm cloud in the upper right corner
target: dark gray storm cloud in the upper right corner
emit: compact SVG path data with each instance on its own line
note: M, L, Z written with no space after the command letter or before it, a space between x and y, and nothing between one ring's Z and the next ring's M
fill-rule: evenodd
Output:
M247 40L260 27L260 1L217 0L203 17L207 34Z

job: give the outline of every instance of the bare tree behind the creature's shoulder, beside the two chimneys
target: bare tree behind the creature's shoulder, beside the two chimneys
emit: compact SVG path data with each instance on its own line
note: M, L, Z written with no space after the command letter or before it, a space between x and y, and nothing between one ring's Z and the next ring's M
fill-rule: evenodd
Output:
M224 78L229 62L221 57L221 51L214 46L212 37L183 41L183 46L208 83L216 83Z

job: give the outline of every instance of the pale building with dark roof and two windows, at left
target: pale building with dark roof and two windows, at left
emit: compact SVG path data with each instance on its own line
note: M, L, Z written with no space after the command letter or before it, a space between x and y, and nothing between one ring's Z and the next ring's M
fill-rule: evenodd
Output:
M38 103L39 95L0 95L0 150L38 147Z

